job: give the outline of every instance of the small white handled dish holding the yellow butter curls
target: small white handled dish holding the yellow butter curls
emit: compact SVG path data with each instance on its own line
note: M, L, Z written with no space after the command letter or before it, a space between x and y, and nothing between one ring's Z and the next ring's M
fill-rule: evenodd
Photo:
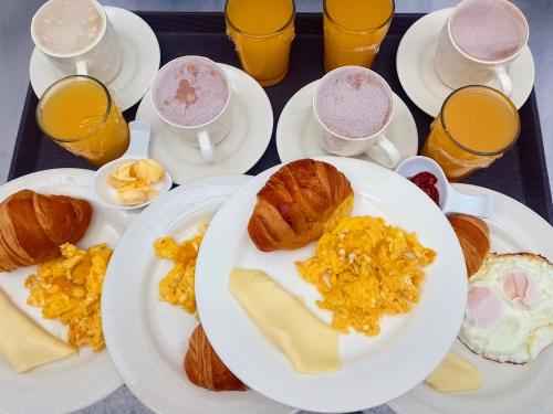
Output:
M125 162L148 158L150 137L149 124L134 120L128 123L128 129L131 132L131 142L125 153L116 160L102 166L94 174L94 193L96 199L102 204L112 209L135 210L145 208L156 198L169 191L173 187L173 179L167 171L165 171L164 179L152 185L152 188L158 192L155 198L137 205L123 205L117 201L117 193L115 189L107 183L107 177Z

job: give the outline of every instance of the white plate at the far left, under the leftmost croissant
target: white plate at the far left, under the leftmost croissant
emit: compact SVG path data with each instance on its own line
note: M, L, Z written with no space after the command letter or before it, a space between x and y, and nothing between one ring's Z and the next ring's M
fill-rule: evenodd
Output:
M0 201L22 189L88 199L94 209L92 223L77 245L90 247L107 243L115 247L132 216L94 202L91 195L93 178L93 171L70 168L34 172L0 187ZM33 272L35 266L0 273L0 288L39 326L66 341L66 329L60 322L43 319L40 308L27 305L29 290L23 284ZM121 385L123 380L106 350L93 352L90 347L84 347L77 358L21 374L13 371L0 354L1 413L69 413L94 404Z

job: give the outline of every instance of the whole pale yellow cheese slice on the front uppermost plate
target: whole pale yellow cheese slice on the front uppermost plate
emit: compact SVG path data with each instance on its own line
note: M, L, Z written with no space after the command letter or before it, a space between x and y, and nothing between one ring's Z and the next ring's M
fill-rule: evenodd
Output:
M340 370L340 333L319 320L264 272L234 268L230 291L259 329L305 374Z

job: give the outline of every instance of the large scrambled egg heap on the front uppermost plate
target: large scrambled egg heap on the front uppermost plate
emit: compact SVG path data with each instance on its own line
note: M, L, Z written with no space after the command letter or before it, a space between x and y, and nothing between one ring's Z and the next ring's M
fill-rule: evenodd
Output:
M408 312L419 300L420 267L435 257L415 233L357 216L342 219L319 240L315 256L296 266L323 296L319 307L334 312L334 328L375 336L382 315Z

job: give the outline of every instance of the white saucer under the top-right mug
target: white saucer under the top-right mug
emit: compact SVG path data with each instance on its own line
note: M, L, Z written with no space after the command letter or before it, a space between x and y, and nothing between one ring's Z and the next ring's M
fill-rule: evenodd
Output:
M438 40L452 10L442 9L420 18L407 30L397 49L396 67L401 86L415 105L432 117L453 92L440 81L434 66ZM528 45L512 62L509 73L513 81L511 100L520 108L532 93L535 77L534 59ZM500 88L495 79L487 85Z

